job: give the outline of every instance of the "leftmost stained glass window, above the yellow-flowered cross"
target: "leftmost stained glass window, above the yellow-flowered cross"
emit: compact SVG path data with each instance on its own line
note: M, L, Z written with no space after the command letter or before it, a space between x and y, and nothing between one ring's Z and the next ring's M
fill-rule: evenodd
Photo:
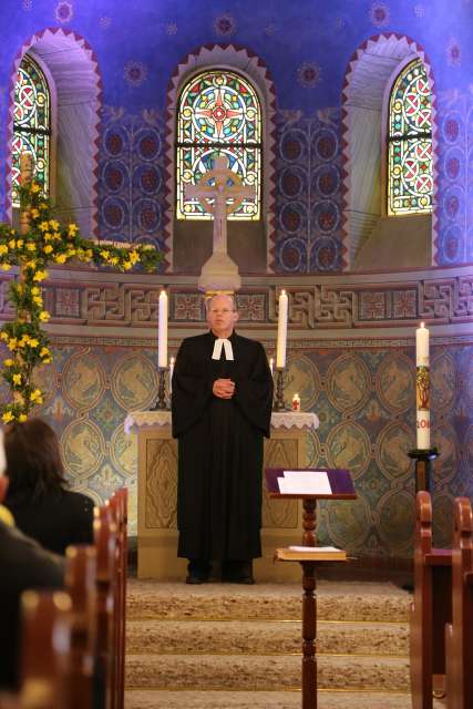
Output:
M24 54L14 86L12 204L20 206L18 194L20 155L31 153L34 177L49 194L49 163L51 154L51 96L45 76L37 62Z

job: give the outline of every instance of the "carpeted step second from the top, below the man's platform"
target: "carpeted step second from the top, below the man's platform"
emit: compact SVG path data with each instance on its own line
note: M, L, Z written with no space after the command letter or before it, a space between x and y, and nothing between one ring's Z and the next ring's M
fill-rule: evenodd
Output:
M128 620L126 650L138 654L300 653L300 620ZM401 623L318 621L318 653L405 656L409 626Z

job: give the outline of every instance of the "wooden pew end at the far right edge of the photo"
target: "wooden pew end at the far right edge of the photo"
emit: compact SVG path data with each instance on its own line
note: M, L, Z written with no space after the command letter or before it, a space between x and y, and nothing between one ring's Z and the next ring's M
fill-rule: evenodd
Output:
M452 623L445 627L446 706L473 707L473 516L467 497L455 501L452 548Z

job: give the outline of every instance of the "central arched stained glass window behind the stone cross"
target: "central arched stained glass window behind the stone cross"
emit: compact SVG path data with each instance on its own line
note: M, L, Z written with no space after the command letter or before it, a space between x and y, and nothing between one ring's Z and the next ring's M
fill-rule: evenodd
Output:
M261 110L254 88L237 73L205 71L184 86L177 114L177 218L209 219L185 194L212 169L218 155L244 185L255 186L229 219L259 219L261 205ZM229 181L232 183L232 179ZM230 203L230 201L228 201Z

